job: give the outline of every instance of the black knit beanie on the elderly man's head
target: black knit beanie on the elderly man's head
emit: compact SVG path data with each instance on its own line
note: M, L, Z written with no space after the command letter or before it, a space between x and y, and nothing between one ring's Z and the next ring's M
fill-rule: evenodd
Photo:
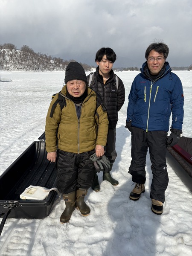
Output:
M84 68L78 62L70 62L65 70L65 84L70 80L83 80L87 83Z

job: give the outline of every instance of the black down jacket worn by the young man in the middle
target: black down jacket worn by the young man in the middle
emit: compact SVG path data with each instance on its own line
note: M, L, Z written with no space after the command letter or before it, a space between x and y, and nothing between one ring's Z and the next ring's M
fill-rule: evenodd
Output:
M89 76L87 80L89 81ZM122 80L118 77L118 90L116 90L116 79L113 70L110 71L110 78L103 83L103 78L99 74L99 67L94 72L93 81L90 88L93 89L102 98L103 104L108 113L109 129L116 128L118 121L118 111L125 102L125 87Z

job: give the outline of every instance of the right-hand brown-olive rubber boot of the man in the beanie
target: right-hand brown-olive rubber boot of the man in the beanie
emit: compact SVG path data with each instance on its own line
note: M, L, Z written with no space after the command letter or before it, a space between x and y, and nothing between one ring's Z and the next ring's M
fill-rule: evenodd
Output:
M76 191L76 206L84 216L90 214L90 208L84 202L84 197L87 195L87 191L88 189L78 189Z

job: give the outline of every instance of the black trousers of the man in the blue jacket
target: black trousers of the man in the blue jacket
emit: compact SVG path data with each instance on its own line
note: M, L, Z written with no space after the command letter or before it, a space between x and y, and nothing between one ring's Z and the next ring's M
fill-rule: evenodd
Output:
M166 131L144 131L133 127L131 132L131 166L129 173L133 182L144 184L146 181L146 154L149 149L152 182L150 198L165 201L165 191L169 183L166 165Z

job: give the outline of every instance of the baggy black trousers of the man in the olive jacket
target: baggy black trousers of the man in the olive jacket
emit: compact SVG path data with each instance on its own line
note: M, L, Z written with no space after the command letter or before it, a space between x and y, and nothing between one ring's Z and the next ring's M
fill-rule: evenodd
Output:
M95 150L81 154L58 151L58 190L63 194L78 188L89 189L94 178L94 164L90 156Z

